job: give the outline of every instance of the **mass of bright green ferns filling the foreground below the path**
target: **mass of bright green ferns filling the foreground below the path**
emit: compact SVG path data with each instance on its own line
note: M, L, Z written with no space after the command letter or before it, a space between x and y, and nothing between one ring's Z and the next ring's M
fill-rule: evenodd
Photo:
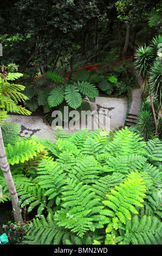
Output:
M159 139L144 142L127 127L113 136L68 135L60 127L54 143L35 136L15 143L11 133L14 145L5 145L19 204L35 214L23 244L162 243ZM5 135L4 127L4 142ZM9 200L2 175L0 181Z

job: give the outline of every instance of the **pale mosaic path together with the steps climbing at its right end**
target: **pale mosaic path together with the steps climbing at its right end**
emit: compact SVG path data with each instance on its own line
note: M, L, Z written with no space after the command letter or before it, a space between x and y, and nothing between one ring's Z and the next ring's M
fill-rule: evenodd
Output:
M141 105L141 95L142 95L142 84L143 78L142 76L138 76L135 73L135 69L133 67L133 72L137 78L137 81L140 85L139 88L132 89L132 103L129 108L129 112L126 113L128 108L128 100L127 96L124 97L98 97L96 102L91 103L92 111L108 111L109 112L109 120L110 125L109 129L113 130L116 126L122 128L125 125L131 126L137 123L137 115L140 110ZM106 112L105 112L106 113ZM36 135L38 138L47 137L51 142L54 141L54 130L51 126L43 123L41 116L24 116L24 115L9 115L10 122L20 124L21 137L23 136L32 136ZM125 120L126 119L126 120ZM86 127L83 127L83 129ZM101 129L104 128L104 125L101 124ZM68 134L79 131L81 127L75 127L75 129L68 129L66 132ZM89 130L89 129L88 129ZM93 129L92 129L93 130Z

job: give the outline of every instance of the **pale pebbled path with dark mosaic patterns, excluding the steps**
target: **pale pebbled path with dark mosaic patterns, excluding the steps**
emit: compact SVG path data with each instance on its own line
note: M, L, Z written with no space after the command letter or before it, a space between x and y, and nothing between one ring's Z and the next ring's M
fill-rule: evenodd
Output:
M108 121L107 124L109 125L108 131L113 130L116 126L123 127L125 123L125 117L127 112L127 106L128 106L128 100L127 97L98 97L94 103L90 103L92 107L92 111L96 113L99 113L99 111L102 111L102 114L104 116L106 111L108 112ZM12 123L18 123L20 125L21 129L21 137L23 136L32 136L36 135L38 138L48 137L51 142L54 141L54 130L51 126L47 125L43 122L43 119L41 116L24 116L24 115L17 115L17 114L10 114L10 119L8 121ZM94 117L99 117L99 115L94 115ZM92 117L92 129L89 129L89 126L81 126L81 120L80 125L74 124L74 130L68 129L66 132L68 134L74 133L79 131L80 129L87 128L89 131L93 130L93 122L95 120ZM105 119L101 118L99 120L99 123L95 124L98 125L99 128L104 129L105 128ZM97 129L97 127L96 127Z

